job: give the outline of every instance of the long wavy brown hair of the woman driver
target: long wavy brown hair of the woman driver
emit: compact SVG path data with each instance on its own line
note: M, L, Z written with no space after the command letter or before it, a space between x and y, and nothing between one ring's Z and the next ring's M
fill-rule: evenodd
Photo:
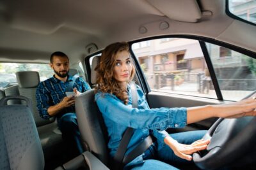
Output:
M129 45L125 42L118 42L108 45L102 52L98 66L95 68L97 71L97 87L95 92L98 90L104 93L114 94L124 104L128 103L127 90L122 90L117 81L114 78L114 68L116 63L116 54L122 51L129 52ZM132 64L132 62L131 62ZM131 76L129 82L134 78L135 67L132 64ZM127 83L129 83L127 82Z

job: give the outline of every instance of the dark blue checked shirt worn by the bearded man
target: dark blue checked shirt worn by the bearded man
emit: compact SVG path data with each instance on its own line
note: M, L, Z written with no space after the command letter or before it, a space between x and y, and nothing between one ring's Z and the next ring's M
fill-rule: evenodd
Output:
M68 87L68 84L73 81L72 76L68 76L67 81L63 82L52 76L51 78L42 81L36 89L36 108L40 113L40 117L49 119L50 115L47 110L50 106L54 106L66 96L65 92ZM85 92L90 90L91 87L84 81L82 78L76 78L76 82L73 85L73 89L76 89L79 92ZM75 113L74 106L66 108L62 111L62 114L58 114L57 117L63 115L64 113Z

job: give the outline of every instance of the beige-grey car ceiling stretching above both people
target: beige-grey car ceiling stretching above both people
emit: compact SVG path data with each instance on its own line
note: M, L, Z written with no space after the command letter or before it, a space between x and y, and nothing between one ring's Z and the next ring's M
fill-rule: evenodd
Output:
M169 27L160 27L163 22ZM228 17L223 0L0 1L0 60L6 62L49 62L60 50L74 64L90 55L85 46L91 43L100 50L115 41L172 34L218 39L255 52L255 31Z

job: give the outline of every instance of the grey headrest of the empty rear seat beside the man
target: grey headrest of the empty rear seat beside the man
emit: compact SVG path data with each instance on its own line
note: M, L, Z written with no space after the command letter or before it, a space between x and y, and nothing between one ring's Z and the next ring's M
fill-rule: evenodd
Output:
M19 71L16 72L19 87L32 88L37 87L40 79L37 71Z

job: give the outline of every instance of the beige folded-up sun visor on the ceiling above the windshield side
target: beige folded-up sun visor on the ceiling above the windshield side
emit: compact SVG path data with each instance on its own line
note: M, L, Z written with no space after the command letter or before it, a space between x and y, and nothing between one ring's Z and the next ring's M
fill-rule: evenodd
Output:
M202 12L196 0L147 0L166 17L182 21L197 22L202 17Z

